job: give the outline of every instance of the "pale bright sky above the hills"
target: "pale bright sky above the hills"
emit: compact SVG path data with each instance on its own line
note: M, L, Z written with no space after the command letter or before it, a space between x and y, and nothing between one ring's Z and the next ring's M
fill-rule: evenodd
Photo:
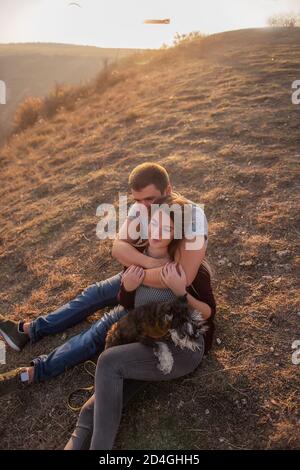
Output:
M263 27L273 14L300 11L300 0L0 0L0 43L56 42L157 48L174 34ZM169 25L145 19L170 18Z

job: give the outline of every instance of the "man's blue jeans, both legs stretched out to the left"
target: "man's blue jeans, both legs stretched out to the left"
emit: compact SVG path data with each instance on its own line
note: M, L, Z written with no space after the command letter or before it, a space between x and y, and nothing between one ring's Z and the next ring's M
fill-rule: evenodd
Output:
M70 338L50 354L34 359L32 365L35 368L35 382L55 377L103 351L107 331L113 323L127 314L127 310L118 305L117 300L121 275L122 273L119 273L105 281L92 284L55 312L31 322L29 336L34 343L47 335L62 332L76 325L103 307L114 307L87 330Z

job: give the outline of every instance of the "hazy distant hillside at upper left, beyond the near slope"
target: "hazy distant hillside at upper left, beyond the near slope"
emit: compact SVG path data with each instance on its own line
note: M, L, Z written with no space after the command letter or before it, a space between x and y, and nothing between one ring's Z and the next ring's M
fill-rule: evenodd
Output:
M0 105L0 138L10 127L17 104L28 96L44 96L55 83L78 84L105 65L138 49L68 44L0 44L0 80L7 86L7 104Z

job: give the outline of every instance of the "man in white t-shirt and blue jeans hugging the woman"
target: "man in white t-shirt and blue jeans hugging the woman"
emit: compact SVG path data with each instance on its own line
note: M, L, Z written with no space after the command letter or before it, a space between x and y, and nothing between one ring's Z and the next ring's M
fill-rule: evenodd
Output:
M138 208L149 208L156 198L172 192L169 175L158 164L144 163L131 172L129 188L136 203L131 207L126 221L114 240L112 256L124 266L137 265L143 268L144 285L166 287L162 283L161 270L167 260L145 256L134 246L137 244L137 239L132 236L132 224L139 226L142 234L145 224L143 219L139 218ZM191 201L189 203L192 208L192 219L188 227L189 237L182 240L177 253L177 258L180 257L180 264L186 274L187 285L194 280L207 246L207 221L204 212L200 206ZM196 224L197 218L201 219L200 227ZM187 236L187 232L185 233ZM194 242L197 244L196 250L189 248L189 243ZM0 396L33 382L55 377L67 368L99 354L104 349L109 328L127 314L127 311L118 305L117 300L121 276L122 272L90 285L78 297L56 311L31 322L15 322L0 316L0 335L10 347L21 351L29 341L35 343L47 335L60 333L76 325L101 308L114 307L89 329L70 338L50 354L33 359L29 367L18 368L0 375Z

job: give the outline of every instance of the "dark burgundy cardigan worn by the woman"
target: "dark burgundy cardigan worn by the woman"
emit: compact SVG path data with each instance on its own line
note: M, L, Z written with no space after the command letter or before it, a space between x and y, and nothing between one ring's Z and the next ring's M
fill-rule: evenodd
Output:
M197 300L208 304L211 308L211 316L206 320L208 330L204 333L205 354L207 354L211 349L215 331L214 317L216 314L216 302L211 287L210 274L203 265L200 266L194 281L187 286L186 290ZM126 291L122 283L118 293L119 303L127 310L130 310L134 308L134 298L135 290L130 292Z

